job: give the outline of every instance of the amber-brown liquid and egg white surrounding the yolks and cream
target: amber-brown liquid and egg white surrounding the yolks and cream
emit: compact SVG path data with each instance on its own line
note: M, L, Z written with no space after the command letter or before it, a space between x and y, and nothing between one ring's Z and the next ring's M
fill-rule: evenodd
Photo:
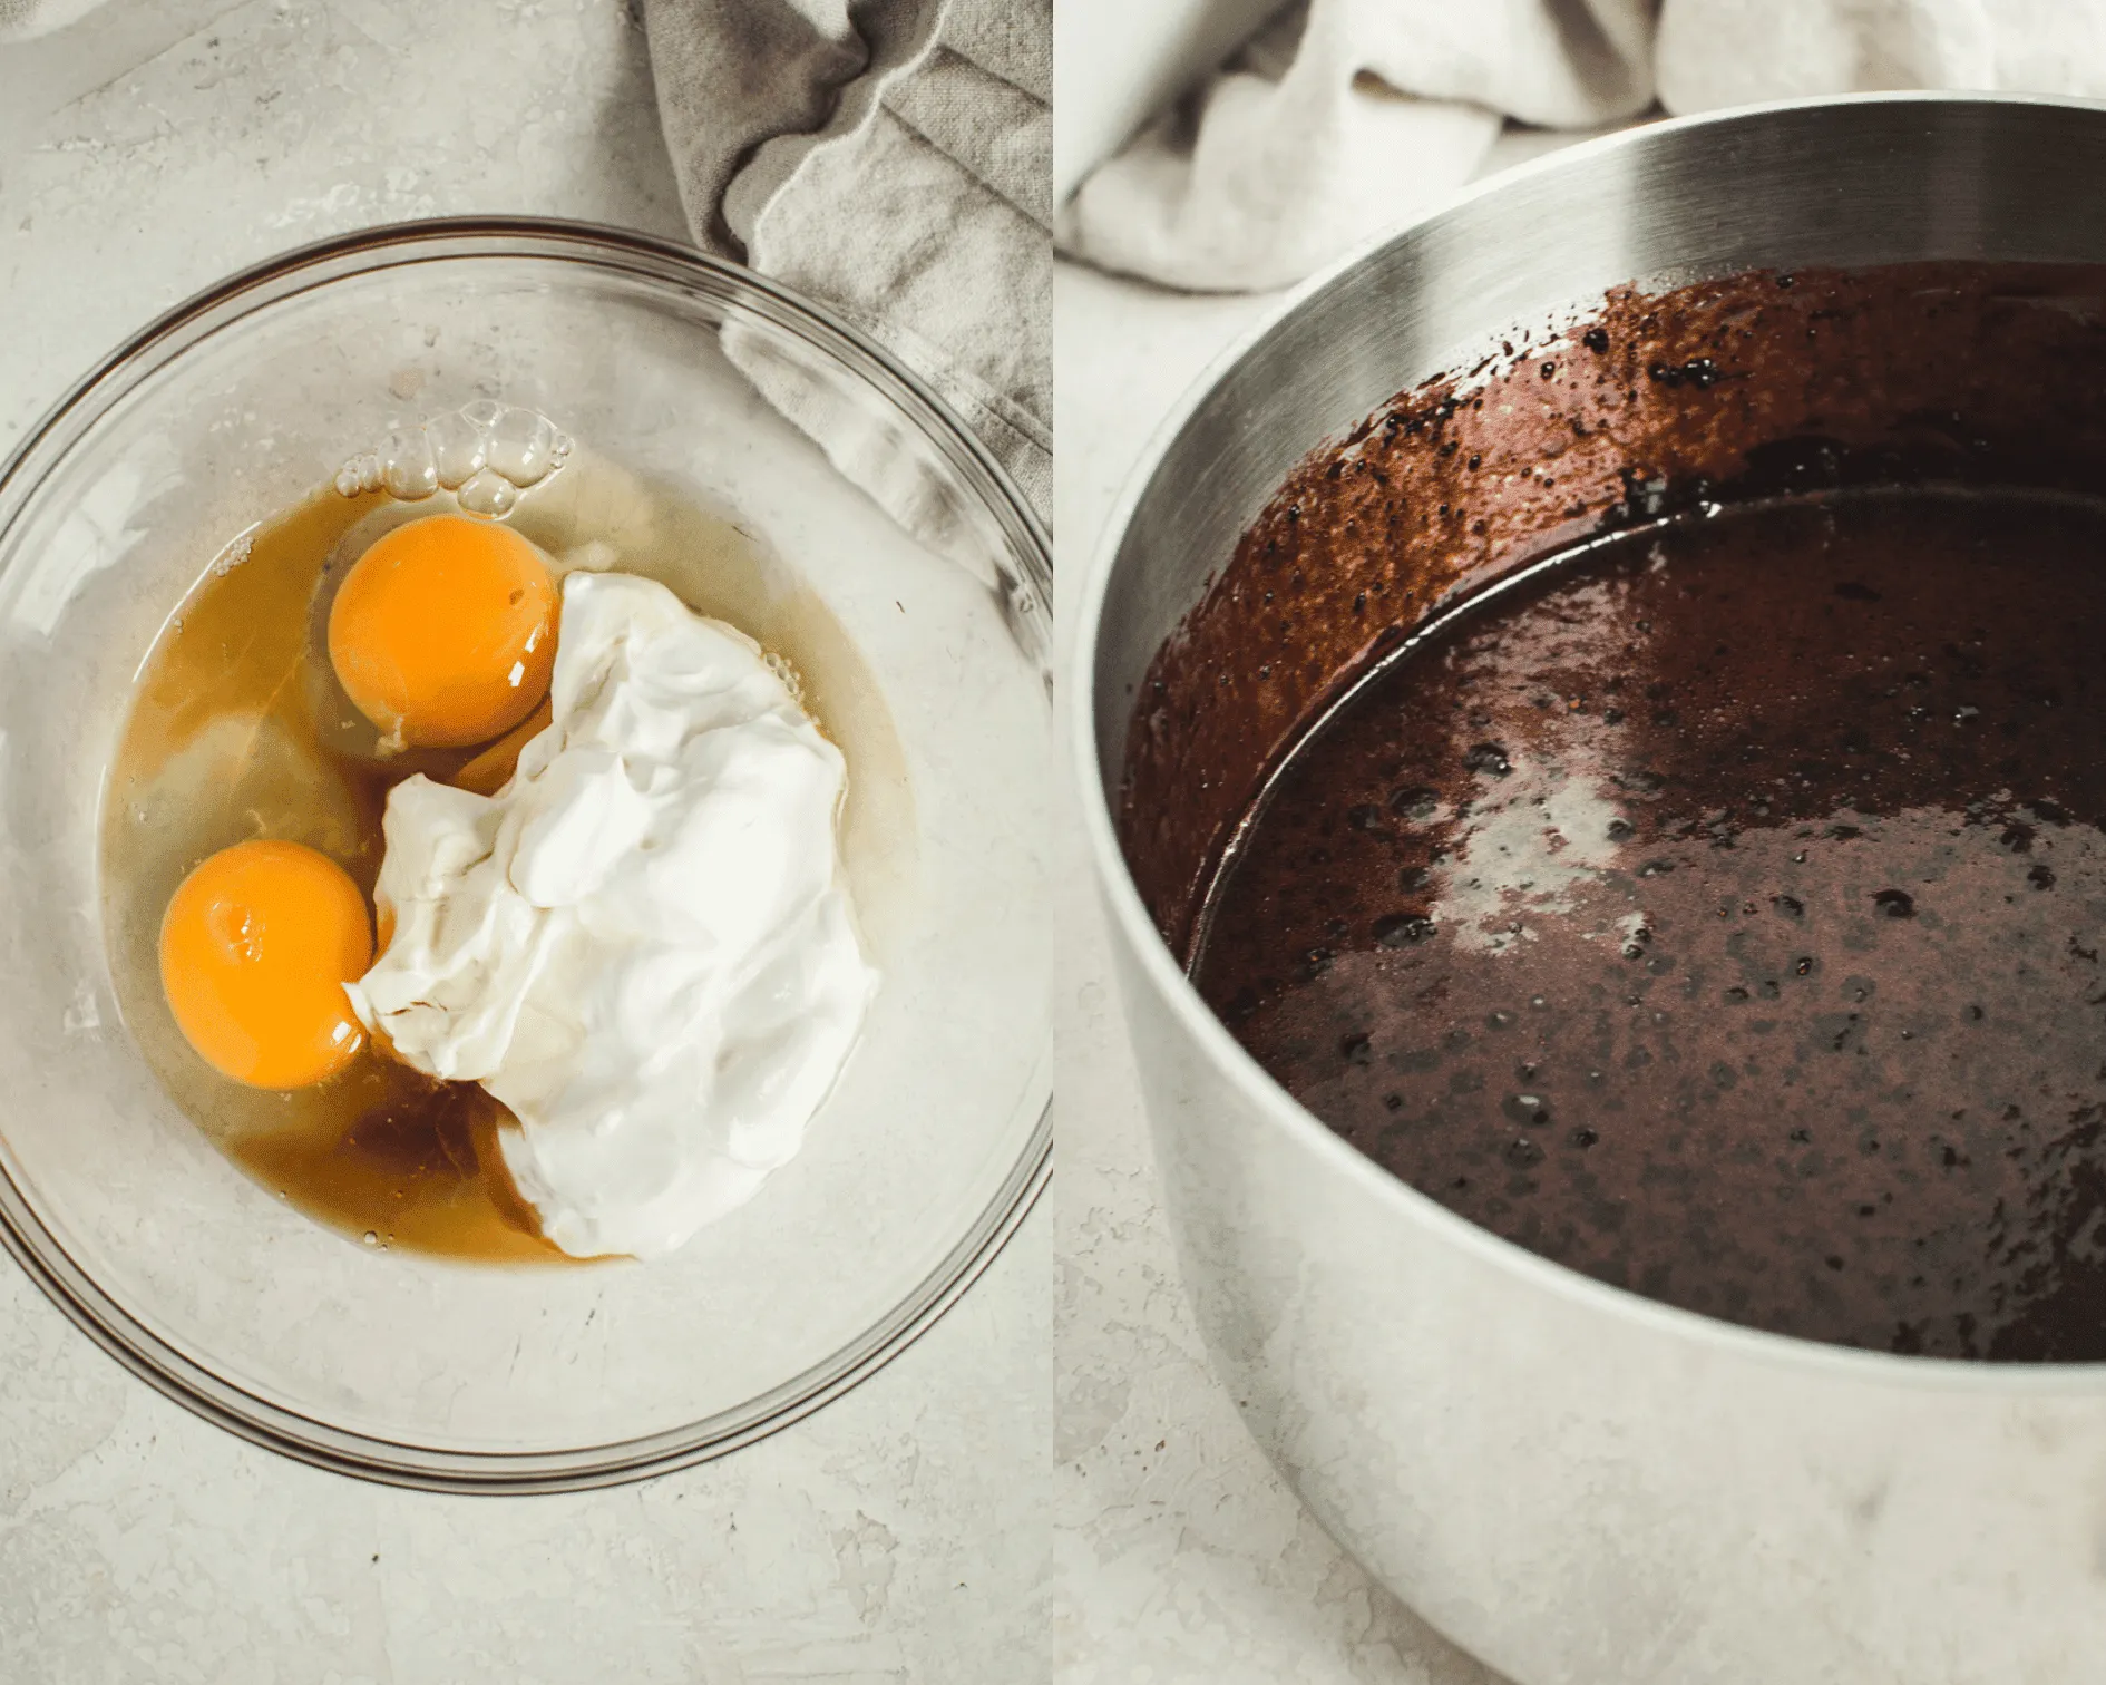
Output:
M211 1070L183 1040L158 975L162 908L208 853L251 836L305 843L371 897L388 790L451 777L476 748L377 754L329 670L333 579L381 531L449 506L318 493L223 552L141 663L103 792L103 914L124 1022L177 1106L272 1192L371 1245L482 1262L573 1262L539 1236L497 1154L503 1108L373 1047L312 1089L272 1093ZM451 506L449 506L451 508ZM779 653L842 744L851 885L878 923L910 870L903 760L876 682L809 590L731 520L583 453L529 493L512 524L569 567L655 577L689 607Z

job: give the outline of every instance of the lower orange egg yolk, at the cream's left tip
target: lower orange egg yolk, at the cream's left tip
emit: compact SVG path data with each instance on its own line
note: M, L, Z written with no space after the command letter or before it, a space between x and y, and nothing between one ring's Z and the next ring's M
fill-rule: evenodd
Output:
M364 1030L343 994L373 965L350 874L299 843L236 843L198 866L160 920L160 986L198 1055L257 1089L343 1070Z

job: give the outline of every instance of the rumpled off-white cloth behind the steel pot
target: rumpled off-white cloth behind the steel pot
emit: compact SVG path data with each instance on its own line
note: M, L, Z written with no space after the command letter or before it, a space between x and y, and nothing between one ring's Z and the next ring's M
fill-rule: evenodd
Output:
M1169 286L1285 286L1468 181L1504 120L1870 88L2106 95L2106 0L1297 0L1057 238Z

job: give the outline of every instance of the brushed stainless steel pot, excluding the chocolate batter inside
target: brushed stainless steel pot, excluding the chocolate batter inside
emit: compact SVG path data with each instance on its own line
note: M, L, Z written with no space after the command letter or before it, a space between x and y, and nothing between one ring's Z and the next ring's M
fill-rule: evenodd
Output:
M1457 348L1622 282L1942 257L2106 261L2106 107L1874 97L1558 154L1304 289L1188 398L1080 588L1082 809L1213 1361L1316 1517L1521 1685L2106 1677L2106 1365L1708 1321L1363 1158L1230 1038L1135 891L1112 807L1135 691L1289 470Z

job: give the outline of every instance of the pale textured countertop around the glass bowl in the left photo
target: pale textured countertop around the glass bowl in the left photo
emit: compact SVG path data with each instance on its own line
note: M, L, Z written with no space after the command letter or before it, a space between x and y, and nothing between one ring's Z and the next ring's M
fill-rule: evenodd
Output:
M88 51L80 29L107 34ZM619 0L114 0L0 46L0 455L225 272L472 211L682 236ZM1051 1230L1040 1205L912 1350L794 1428L647 1485L520 1500L251 1449L0 1260L0 1681L1038 1679Z

